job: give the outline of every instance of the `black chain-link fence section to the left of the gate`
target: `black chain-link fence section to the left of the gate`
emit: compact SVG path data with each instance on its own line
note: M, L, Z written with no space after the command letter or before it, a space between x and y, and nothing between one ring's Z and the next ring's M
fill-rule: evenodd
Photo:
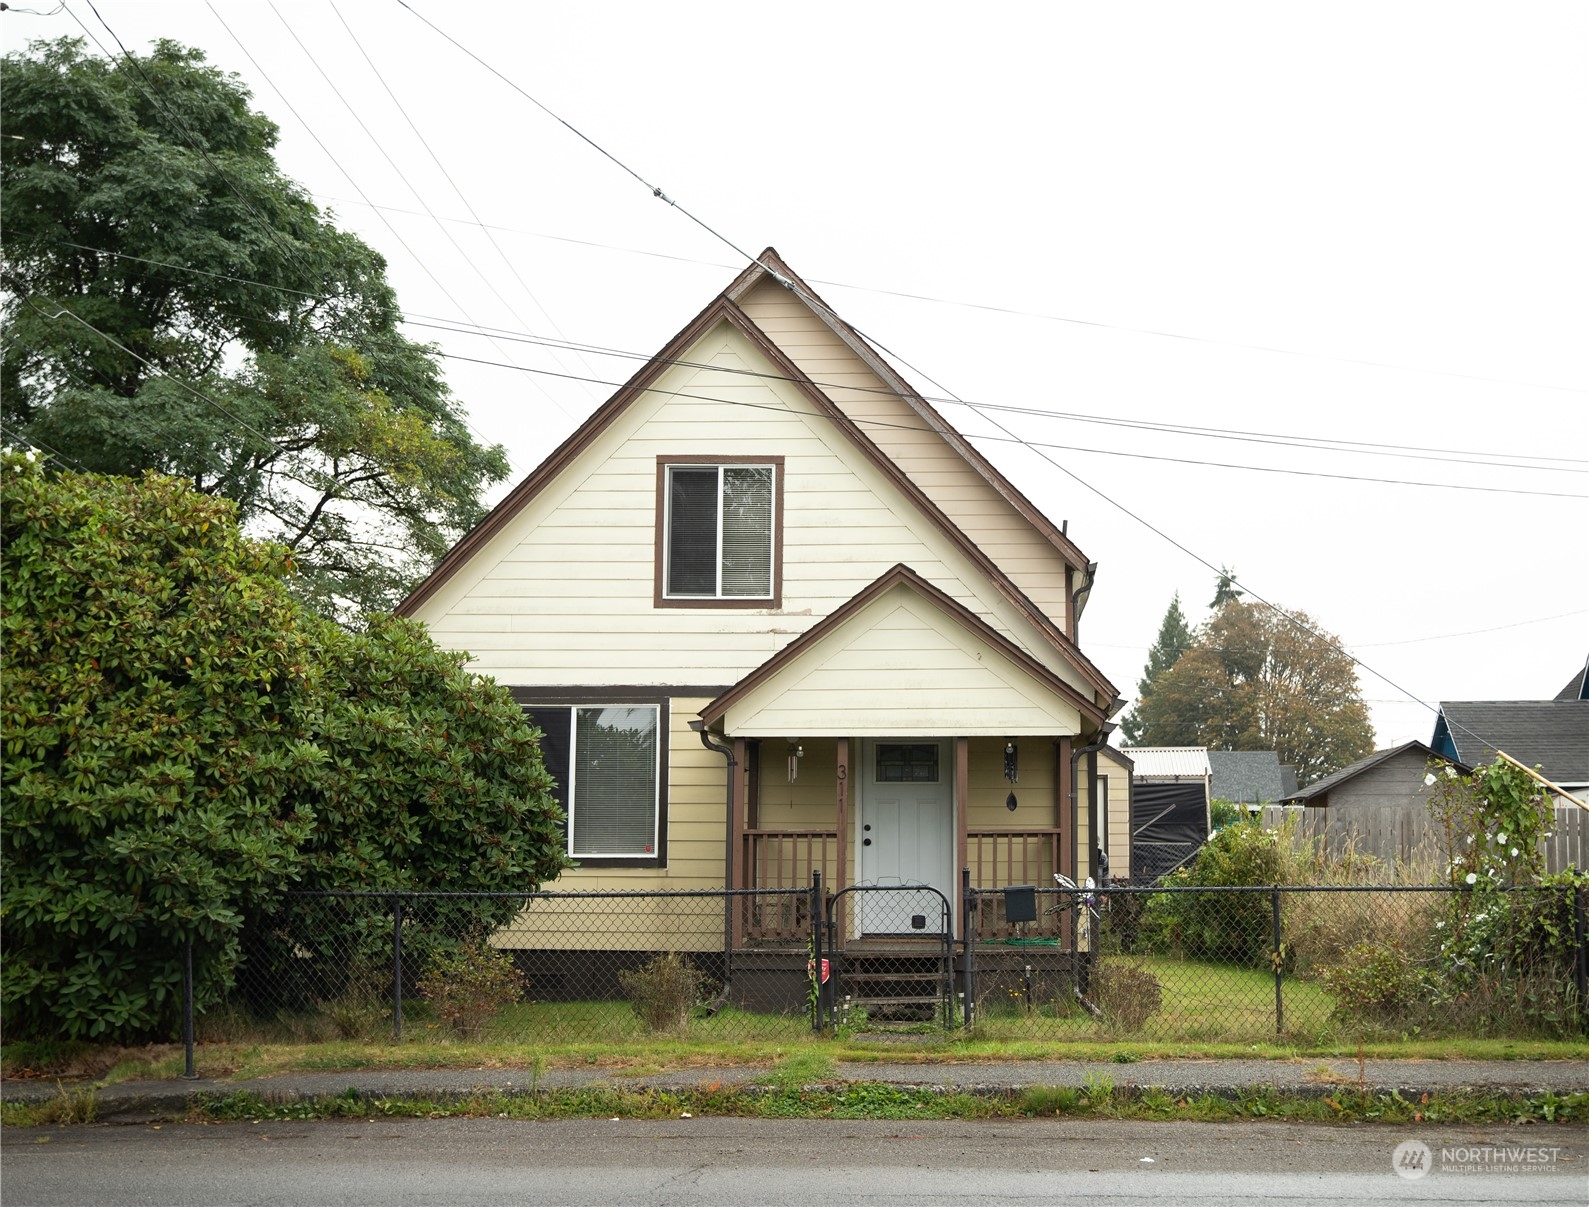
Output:
M812 1029L809 916L809 889L288 894L200 1034L777 1040Z

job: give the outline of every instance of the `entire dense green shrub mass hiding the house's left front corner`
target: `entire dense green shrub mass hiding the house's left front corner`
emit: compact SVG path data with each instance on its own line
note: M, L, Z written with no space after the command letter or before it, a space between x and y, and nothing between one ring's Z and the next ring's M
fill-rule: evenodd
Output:
M292 966L340 991L389 923L327 904L286 959L292 886L529 891L566 862L507 691L413 623L348 632L308 611L288 551L234 513L181 480L0 456L11 1034L172 1034L189 939L200 1008L240 966L254 986ZM412 921L424 940L513 908L443 900Z

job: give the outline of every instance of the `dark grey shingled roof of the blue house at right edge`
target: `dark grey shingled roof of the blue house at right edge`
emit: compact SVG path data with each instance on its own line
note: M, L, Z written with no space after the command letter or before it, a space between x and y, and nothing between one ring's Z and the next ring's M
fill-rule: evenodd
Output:
M1559 785L1586 785L1589 700L1441 700L1430 745L1470 767L1500 751Z

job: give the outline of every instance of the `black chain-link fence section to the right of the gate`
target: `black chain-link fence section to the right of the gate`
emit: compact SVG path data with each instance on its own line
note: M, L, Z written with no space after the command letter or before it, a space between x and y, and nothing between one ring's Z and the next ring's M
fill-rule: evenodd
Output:
M972 889L990 1037L1254 1042L1584 1034L1584 893Z

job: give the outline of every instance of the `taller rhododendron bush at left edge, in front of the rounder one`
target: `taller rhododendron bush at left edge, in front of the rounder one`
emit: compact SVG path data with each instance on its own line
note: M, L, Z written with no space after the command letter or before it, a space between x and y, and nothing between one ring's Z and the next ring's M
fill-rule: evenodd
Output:
M148 1034L188 939L199 1004L221 996L315 824L288 554L170 478L0 475L6 1028Z

